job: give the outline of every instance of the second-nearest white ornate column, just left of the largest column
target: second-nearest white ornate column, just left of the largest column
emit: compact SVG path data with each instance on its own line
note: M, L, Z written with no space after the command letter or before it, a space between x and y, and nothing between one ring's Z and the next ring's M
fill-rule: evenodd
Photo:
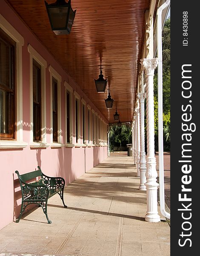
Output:
M144 100L146 93L137 93L140 102L140 190L146 190L146 154L145 154L145 132L144 132Z

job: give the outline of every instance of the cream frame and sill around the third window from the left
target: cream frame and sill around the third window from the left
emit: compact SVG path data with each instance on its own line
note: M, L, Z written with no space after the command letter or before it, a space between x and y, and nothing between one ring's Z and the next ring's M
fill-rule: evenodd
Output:
M62 141L62 129L61 129L61 81L62 77L49 65L50 73L50 125L51 125L51 148L61 148L64 146ZM53 142L53 103L52 103L52 79L57 80L57 142Z

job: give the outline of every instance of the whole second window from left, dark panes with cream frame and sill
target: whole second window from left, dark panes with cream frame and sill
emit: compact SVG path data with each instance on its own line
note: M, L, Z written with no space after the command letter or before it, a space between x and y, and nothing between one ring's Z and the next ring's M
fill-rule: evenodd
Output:
M29 44L30 54L30 147L47 148L46 60Z

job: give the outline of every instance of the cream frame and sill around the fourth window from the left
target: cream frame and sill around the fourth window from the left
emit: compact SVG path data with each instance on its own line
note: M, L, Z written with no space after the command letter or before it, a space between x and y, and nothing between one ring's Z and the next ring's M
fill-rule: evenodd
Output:
M64 81L64 86L65 86L65 116L67 116L67 91L69 92L69 113L70 113L70 119L69 119L69 134L70 134L70 142L67 142L67 119L65 122L65 146L66 147L74 147L73 144L73 122L72 122L72 93L73 93L73 88L66 82Z

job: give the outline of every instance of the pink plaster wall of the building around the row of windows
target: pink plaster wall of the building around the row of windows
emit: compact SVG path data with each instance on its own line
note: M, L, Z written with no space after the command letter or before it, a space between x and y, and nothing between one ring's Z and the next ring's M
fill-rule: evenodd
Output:
M0 147L0 229L11 223L18 217L20 212L20 187L17 175L14 173L18 170L20 174L34 171L37 166L41 166L42 171L49 176L61 176L66 180L66 184L72 182L83 173L102 162L107 157L107 128L108 121L94 106L94 104L84 95L78 84L62 69L54 60L48 50L43 47L40 41L31 33L29 28L20 20L19 17L10 9L7 3L2 0L0 15L20 33L24 39L22 46L22 80L23 80L23 142L28 143L25 148L1 148ZM30 54L28 45L31 45L47 62L45 70L46 76L46 142L51 143L51 122L50 122L50 74L49 65L57 71L62 77L61 81L61 143L64 145L60 148L31 148L30 143ZM66 147L65 134L65 87L66 81L74 91L80 95L80 143L82 139L82 111L81 100L86 102L91 110L99 116L99 120L104 123L105 133L103 143L100 145L89 146L71 146ZM74 123L74 93L72 93L72 121ZM87 132L86 119L86 134ZM75 125L72 125L72 134L75 134ZM74 138L73 138L74 142ZM66 201L67 204L67 201Z

